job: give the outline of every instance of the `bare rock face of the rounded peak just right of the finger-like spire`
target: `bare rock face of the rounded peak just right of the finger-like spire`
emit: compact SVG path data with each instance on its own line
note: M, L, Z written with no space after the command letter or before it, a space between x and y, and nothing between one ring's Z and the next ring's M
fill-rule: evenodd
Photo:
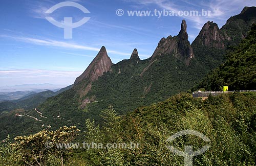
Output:
M208 21L204 24L195 42L204 46L224 49L224 40L217 23Z

